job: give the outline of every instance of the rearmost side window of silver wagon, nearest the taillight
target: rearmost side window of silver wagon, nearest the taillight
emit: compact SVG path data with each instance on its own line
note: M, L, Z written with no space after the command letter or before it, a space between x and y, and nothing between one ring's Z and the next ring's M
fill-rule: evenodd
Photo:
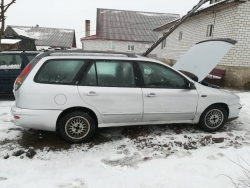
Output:
M43 64L34 81L50 84L73 84L85 60L49 60Z

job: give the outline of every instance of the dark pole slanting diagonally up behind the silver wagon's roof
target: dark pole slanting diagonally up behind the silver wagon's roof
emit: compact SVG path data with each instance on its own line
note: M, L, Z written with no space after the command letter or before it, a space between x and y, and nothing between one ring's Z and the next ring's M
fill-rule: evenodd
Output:
M196 12L203 4L210 0L200 0L199 3L193 7L185 16L183 16L180 20L178 20L174 26L172 26L168 32L164 33L161 38L159 38L150 48L147 49L146 52L142 54L142 56L147 56L150 52L152 52L164 39L166 39L171 33L174 32L186 19L188 19L193 13Z

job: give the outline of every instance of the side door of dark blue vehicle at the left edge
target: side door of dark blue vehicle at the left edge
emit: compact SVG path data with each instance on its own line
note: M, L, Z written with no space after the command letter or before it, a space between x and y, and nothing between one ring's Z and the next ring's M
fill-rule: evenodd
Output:
M12 93L14 82L26 65L21 53L0 53L0 93Z

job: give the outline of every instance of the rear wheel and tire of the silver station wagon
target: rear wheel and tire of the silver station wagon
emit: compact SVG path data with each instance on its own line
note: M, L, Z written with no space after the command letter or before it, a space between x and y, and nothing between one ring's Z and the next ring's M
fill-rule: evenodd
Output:
M94 119L85 112L75 111L66 114L59 123L59 133L69 143L88 141L95 133Z

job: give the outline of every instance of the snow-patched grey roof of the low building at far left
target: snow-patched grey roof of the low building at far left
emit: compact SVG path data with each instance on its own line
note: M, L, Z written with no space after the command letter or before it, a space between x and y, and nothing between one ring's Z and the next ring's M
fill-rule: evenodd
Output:
M8 26L5 36L35 39L36 46L76 47L74 29Z

